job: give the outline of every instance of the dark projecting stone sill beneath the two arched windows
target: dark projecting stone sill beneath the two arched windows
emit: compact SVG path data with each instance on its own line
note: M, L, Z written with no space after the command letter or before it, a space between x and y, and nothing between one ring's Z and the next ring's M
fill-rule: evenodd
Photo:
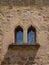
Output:
M13 49L13 50L37 50L40 47L39 44L34 44L34 45L16 45L16 44L11 44L8 49Z

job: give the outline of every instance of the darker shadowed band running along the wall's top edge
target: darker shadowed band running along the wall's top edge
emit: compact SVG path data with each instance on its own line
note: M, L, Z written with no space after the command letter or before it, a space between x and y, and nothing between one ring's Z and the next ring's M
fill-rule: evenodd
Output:
M0 0L0 5L15 6L33 6L33 5L49 5L49 0Z

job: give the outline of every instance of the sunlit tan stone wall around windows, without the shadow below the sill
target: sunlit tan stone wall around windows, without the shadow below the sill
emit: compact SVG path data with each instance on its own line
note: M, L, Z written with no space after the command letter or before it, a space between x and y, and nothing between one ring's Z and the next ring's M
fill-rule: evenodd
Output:
M18 25L24 31L31 25L36 28L36 43L40 47L34 62L36 65L49 65L49 6L0 6L0 63L9 45L15 43L14 31Z

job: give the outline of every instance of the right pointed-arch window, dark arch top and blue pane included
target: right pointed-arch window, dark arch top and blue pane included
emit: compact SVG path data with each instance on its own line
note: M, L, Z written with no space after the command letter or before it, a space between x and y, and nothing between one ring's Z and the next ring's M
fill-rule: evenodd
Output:
M30 26L28 28L27 40L28 40L28 44L35 44L36 42L36 30L33 26Z

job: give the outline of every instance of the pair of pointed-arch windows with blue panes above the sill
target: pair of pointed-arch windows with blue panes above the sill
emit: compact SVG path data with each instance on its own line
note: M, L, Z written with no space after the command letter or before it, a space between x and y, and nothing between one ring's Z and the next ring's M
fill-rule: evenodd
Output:
M17 26L15 29L15 43L16 45L23 45L23 28ZM36 30L34 27L30 26L27 30L27 45L33 45L36 42Z

